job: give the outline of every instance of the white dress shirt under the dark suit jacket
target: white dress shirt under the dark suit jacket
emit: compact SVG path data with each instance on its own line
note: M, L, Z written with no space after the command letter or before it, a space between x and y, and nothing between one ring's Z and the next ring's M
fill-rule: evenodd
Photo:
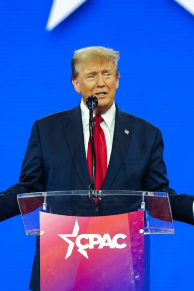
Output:
M115 104L111 106L111 108L104 114L102 114L102 118L104 119L100 126L104 130L104 135L106 139L106 148L107 148L107 166L110 161L112 145L113 145L113 134L114 134L114 123L115 123L115 113L116 107ZM95 116L95 114L94 114ZM89 133L89 109L84 105L83 100L81 100L81 117L82 117L82 125L83 125L83 135L84 135L84 144L85 144L85 153L87 157L88 153L88 141L90 137Z

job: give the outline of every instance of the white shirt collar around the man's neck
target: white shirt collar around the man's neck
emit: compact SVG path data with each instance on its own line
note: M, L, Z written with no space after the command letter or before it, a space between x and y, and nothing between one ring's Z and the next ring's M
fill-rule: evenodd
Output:
M89 109L84 105L83 99L81 99L80 107L81 107L83 128L86 128L89 124ZM111 106L111 108L109 108L107 112L101 115L109 128L113 126L113 122L115 120L115 113L116 113L116 107L115 107L115 103L113 102L113 105Z

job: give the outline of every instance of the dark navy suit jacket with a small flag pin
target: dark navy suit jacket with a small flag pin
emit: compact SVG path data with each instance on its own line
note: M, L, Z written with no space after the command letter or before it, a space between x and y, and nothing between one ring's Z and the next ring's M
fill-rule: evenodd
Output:
M19 214L16 194L88 190L89 184L80 106L46 116L32 127L19 183L0 194L0 218ZM161 131L118 108L102 190L167 192L173 218L194 224L194 197L178 195L168 186ZM38 290L36 283L32 278L32 290Z

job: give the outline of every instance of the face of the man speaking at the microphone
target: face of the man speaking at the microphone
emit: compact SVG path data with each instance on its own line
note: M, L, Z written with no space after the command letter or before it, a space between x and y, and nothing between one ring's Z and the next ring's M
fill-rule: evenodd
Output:
M90 61L82 62L80 73L72 80L77 93L81 93L83 103L90 95L95 95L98 105L95 114L103 114L113 105L115 91L118 88L118 78L115 75L113 62Z

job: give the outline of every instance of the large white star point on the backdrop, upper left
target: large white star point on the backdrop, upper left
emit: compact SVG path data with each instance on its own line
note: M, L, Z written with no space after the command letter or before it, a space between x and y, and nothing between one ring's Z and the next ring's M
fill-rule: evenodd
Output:
M47 22L47 30L52 30L85 1L86 0L53 0L49 20Z

